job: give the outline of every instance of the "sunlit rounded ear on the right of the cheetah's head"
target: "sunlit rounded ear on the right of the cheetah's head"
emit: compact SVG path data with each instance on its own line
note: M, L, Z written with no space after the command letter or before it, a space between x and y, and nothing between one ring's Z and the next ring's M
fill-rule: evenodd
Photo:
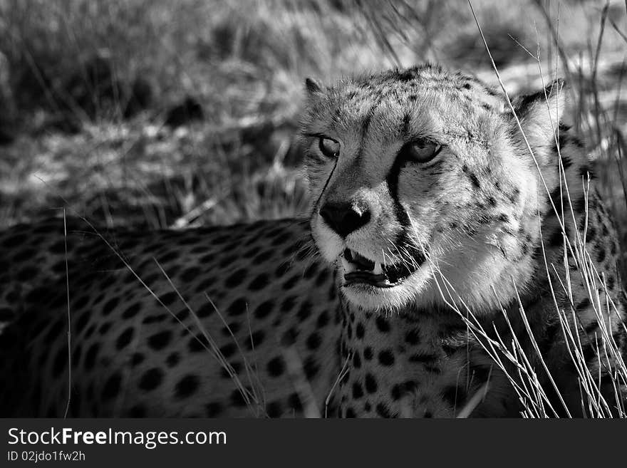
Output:
M532 148L546 147L555 141L555 130L564 113L564 94L564 80L559 78L537 93L514 100L514 110Z

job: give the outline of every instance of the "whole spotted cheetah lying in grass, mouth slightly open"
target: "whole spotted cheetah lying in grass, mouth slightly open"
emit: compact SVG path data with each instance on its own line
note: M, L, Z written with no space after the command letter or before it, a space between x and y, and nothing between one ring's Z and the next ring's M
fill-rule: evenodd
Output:
M562 87L308 79L304 219L7 229L0 415L618 414L619 246Z

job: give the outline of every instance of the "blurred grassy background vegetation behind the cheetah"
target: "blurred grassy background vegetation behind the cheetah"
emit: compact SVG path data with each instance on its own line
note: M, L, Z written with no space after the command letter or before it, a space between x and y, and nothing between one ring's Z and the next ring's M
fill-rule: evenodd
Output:
M627 239L626 3L472 6L509 93L566 78ZM0 0L0 227L304 213L304 78L425 61L497 83L463 0Z

